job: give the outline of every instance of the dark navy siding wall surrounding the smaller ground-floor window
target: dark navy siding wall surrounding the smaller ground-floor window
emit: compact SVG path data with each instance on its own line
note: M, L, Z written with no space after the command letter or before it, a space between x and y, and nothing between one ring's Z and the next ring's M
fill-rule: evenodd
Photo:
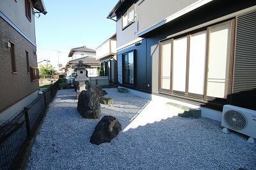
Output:
M118 82L120 83L120 66L122 65L122 54L125 52L129 52L131 50L134 50L134 89L139 89L141 91L151 91L151 75L148 75L148 73L151 73L151 58L147 58L146 54L146 40L142 40L141 44L136 45L130 45L129 47L126 47L125 49L119 50L117 52L118 54ZM148 75L148 76L147 76ZM148 87L149 84L149 87Z

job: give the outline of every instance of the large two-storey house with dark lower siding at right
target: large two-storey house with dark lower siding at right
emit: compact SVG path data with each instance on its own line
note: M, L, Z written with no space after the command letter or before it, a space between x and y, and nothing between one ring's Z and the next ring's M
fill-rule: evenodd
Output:
M255 5L118 1L108 15L116 17L118 84L202 106L216 120L225 104L256 110Z

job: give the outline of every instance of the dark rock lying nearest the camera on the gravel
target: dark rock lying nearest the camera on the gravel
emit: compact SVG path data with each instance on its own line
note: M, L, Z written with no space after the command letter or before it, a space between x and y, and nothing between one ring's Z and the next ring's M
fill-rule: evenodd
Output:
M122 130L121 123L113 116L104 116L96 125L90 138L92 144L110 143Z

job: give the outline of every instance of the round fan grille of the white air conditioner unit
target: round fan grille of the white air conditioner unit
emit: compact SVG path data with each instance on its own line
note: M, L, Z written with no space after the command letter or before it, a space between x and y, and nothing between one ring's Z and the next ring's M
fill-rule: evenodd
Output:
M246 118L239 111L227 111L224 118L227 124L235 130L241 130L246 126Z

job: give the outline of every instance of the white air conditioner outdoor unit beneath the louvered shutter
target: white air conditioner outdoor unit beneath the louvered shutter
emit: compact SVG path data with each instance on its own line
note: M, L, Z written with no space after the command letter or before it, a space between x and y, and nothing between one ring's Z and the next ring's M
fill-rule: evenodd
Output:
M228 133L228 129L234 130L248 135L250 137L248 142L254 143L256 138L256 111L234 105L224 105L221 126L224 127L223 132Z

